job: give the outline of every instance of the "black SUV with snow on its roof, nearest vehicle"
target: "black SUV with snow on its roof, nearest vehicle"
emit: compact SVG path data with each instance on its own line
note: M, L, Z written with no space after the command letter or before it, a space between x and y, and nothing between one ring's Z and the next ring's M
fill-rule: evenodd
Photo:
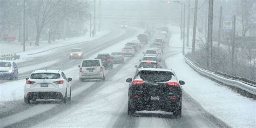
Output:
M140 69L134 78L126 79L129 85L127 112L136 111L172 112L181 117L182 88L185 82L178 80L172 70Z

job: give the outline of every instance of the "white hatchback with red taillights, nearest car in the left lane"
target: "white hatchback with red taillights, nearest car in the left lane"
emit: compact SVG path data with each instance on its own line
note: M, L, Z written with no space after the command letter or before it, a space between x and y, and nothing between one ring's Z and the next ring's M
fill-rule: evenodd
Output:
M26 78L24 102L36 99L58 99L71 102L72 78L67 78L61 70L35 70Z

